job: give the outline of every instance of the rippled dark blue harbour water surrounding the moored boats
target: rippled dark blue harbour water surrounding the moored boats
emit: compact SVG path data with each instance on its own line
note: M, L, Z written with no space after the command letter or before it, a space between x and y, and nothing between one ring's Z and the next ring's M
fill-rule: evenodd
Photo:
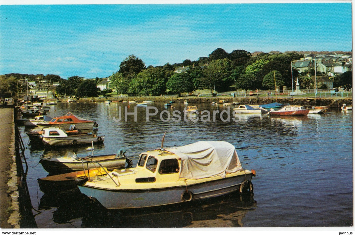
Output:
M165 131L165 147L199 140L230 142L236 147L242 166L256 170L256 177L252 179L254 195L246 198L232 193L201 202L130 211L102 209L78 190L47 195L37 184L38 178L48 175L39 164L40 156L62 156L66 151L88 155L85 150L88 146L35 146L26 135L30 130L22 126L20 131L27 144L29 165L27 184L33 208L37 210L34 212L38 228L353 225L352 111L331 110L304 117L234 117L232 108L228 113L223 105L194 103L189 105L196 105L200 111L208 110L211 119L201 121L203 117L199 114L185 121L183 103L173 103L168 109L164 108L164 103L151 105L157 107L158 114L149 116L149 121L146 120L147 107L129 103L58 103L51 106L47 115L54 117L72 112L97 121L97 133L105 135L105 141L95 146L94 154L113 154L124 148L133 165L141 152L160 148ZM135 107L136 114L133 114ZM173 120L175 110L181 112L181 121ZM226 111L221 117L223 110ZM230 121L224 121L228 114ZM169 115L170 120L166 121Z

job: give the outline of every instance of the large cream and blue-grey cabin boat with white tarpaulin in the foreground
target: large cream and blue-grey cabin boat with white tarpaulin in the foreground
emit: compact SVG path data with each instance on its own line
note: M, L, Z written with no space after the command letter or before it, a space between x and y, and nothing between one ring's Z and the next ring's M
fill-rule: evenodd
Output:
M199 141L141 153L135 168L114 170L78 186L106 208L144 208L251 193L253 176L254 170L242 168L232 144Z

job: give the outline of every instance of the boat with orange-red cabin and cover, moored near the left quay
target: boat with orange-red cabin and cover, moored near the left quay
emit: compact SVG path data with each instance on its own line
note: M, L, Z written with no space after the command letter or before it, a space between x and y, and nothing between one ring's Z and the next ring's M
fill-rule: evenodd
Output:
M63 129L70 129L71 125L75 125L77 129L88 130L93 129L93 127L98 127L99 125L92 120L84 119L78 117L72 113L67 113L64 116L54 117L48 123L38 124L40 127L61 127Z

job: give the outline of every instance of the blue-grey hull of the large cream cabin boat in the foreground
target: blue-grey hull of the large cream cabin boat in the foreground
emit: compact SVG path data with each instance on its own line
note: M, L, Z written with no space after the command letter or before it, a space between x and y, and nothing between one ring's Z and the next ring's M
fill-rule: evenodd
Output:
M188 185L187 190L188 193L191 192L191 200L217 197L239 191L242 182L251 180L251 178L252 174L219 178L200 184ZM78 185L78 187L83 194L88 197L95 197L108 209L155 207L191 201L184 197L186 185L142 190L108 190L104 188L92 188L86 185Z

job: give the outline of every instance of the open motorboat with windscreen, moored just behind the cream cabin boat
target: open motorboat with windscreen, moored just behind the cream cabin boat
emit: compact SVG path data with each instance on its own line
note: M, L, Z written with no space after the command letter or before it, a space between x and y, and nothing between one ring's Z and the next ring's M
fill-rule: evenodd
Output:
M42 157L39 163L49 173L67 173L77 170L96 169L100 166L108 170L120 169L125 167L126 160L124 153L77 157L75 153L67 152L63 157Z

